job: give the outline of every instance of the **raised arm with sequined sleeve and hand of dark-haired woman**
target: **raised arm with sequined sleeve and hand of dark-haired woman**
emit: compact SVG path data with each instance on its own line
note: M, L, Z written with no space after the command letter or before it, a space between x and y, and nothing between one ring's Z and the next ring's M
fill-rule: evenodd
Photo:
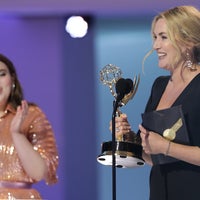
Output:
M38 109L30 112L28 117L27 112L27 102L22 101L11 123L16 151L24 170L32 179L55 182L58 156L51 126ZM26 130L23 129L24 119L29 120Z

